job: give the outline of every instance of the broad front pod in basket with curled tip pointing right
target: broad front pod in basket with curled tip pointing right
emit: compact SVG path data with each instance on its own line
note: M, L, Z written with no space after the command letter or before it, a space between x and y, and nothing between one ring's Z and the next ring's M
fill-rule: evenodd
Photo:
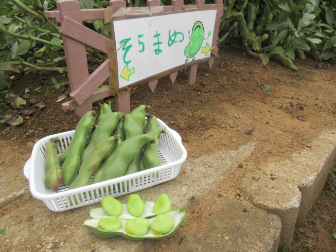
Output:
M123 141L115 153L114 158L102 165L102 181L121 177L125 174L128 164L139 153L146 143L154 143L154 137L146 134L138 135Z

